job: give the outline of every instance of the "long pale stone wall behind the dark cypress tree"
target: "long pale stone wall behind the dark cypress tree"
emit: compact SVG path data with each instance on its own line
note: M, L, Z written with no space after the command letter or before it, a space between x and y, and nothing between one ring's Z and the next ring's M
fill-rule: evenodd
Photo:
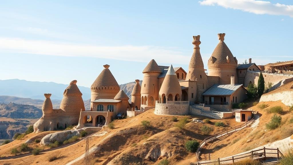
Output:
M260 72L247 71L243 84L244 87L247 87L250 81L251 83L257 85L259 75ZM281 85L293 81L293 75L285 74L263 73L263 78L265 80L265 83L273 83L272 88L280 87Z

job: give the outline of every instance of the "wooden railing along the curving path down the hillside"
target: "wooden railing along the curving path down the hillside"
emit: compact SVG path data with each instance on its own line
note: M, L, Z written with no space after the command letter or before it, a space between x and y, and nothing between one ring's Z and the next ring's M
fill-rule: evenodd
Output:
M239 131L243 128L246 128L248 127L249 125L251 125L253 122L254 122L254 118L255 118L255 115L254 117L248 121L248 122L245 122L239 126L236 126L234 128L231 128L231 129L227 129L226 131L223 131L223 132L220 132L220 133L217 133L217 134L214 134L210 137L207 137L205 138L199 145L198 149L196 150L196 157L197 157L197 160L200 160L200 150L205 146L205 144L207 144L207 142L210 142L214 139L217 139L218 137L222 137L222 136L225 136L227 134L230 134L230 133L233 133L233 132L236 132L236 131Z

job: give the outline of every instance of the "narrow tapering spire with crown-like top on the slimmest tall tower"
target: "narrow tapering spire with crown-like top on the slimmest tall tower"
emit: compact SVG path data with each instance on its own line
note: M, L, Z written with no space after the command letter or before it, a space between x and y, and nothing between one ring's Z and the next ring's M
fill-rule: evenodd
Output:
M202 57L200 55L200 35L193 36L192 44L194 45L193 54L190 59L189 67L188 68L203 68Z

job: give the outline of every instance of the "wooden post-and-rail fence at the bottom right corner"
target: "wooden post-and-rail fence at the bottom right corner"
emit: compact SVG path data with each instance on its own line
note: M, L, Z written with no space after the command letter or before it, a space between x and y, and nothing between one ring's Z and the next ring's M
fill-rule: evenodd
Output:
M274 152L275 151L275 152ZM249 157L250 159L268 159L272 157L280 158L280 156L284 156L282 152L277 149L269 149L263 147L263 149L253 150L251 152L247 152L244 154L239 154L235 156L230 156L226 158L218 158L216 160L209 160L209 161L198 161L197 163L191 163L193 165L201 165L201 164L215 164L215 163L234 163L236 161L240 161L243 158Z

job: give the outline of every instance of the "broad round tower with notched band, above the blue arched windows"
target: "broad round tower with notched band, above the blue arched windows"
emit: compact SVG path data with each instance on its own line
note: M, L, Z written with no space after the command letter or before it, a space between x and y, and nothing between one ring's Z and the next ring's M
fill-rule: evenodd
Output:
M109 70L110 65L103 65L105 69L91 85L91 102L98 99L114 99L120 90L113 74ZM92 109L91 104L91 109Z

